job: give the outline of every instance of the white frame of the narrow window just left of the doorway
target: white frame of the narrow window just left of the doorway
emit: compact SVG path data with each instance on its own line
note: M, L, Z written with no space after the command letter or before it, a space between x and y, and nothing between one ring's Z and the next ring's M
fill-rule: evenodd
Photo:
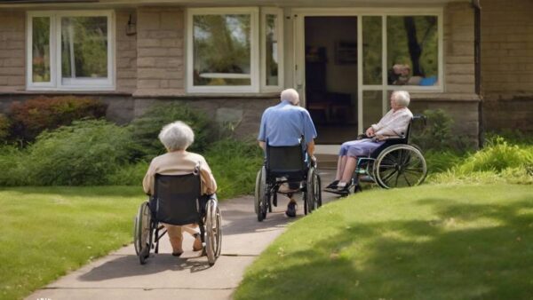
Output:
M277 56L278 56L278 84L267 85L267 15L276 16ZM261 91L282 91L283 89L283 11L277 8L261 9Z

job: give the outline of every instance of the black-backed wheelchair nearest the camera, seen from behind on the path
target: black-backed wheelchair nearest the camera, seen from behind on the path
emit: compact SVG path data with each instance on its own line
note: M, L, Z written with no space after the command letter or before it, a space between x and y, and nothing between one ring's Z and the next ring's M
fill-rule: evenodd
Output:
M210 265L215 264L222 245L222 217L216 196L201 196L198 168L186 175L156 174L154 189L135 217L133 240L139 263L146 263L152 249L155 254L159 252L159 241L166 233L163 223L194 223L200 227L203 256Z

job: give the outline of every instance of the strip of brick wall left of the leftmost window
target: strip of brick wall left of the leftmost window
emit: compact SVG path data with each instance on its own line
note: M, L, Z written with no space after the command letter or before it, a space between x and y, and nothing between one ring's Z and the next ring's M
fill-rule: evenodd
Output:
M0 91L25 90L25 37L25 12L0 12Z

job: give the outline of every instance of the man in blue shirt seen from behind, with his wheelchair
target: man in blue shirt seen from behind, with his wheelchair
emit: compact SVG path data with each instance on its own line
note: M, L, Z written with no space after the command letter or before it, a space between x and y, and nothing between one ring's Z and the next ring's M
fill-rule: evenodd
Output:
M277 193L290 198L285 211L288 217L296 217L297 205L293 193L304 193L305 212L314 208L310 196L312 191L307 182L313 178L314 182L320 180L315 171L316 160L313 155L316 130L311 116L298 103L298 92L287 89L281 93L281 103L268 107L261 117L258 141L265 150L266 161L262 170L259 170L256 182L259 221L266 217L267 209L272 211L273 201L274 206L277 206ZM302 184L302 181L305 183Z

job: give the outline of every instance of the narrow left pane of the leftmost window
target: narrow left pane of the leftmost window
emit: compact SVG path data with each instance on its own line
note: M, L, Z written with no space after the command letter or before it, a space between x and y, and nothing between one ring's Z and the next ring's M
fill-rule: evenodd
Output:
M50 83L50 18L33 18L32 33L32 81Z

